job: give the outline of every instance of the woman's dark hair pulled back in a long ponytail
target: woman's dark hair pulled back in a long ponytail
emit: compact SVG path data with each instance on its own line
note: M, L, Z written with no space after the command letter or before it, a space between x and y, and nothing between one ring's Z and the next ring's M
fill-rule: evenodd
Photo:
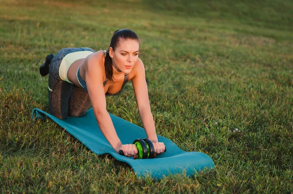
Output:
M106 72L106 78L110 80L111 82L114 82L113 80L113 67L112 67L112 59L109 55L109 49L110 47L113 48L113 50L116 49L116 47L119 45L120 41L131 39L131 40L137 40L139 42L139 38L135 32L129 29L122 29L122 30L116 30L112 36L110 46L108 50L105 53L105 72Z

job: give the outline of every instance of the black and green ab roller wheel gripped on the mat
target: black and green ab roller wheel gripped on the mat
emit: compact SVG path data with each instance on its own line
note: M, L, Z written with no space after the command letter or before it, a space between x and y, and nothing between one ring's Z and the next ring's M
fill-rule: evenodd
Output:
M133 144L138 150L138 157L136 159L147 159L155 157L155 148L150 139L136 139L134 140ZM124 152L120 150L119 154L124 155Z

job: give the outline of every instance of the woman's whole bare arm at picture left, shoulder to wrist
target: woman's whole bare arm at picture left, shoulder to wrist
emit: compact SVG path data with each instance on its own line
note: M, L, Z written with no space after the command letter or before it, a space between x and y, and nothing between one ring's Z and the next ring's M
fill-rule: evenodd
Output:
M122 143L116 133L111 117L106 110L103 85L103 72L105 72L105 69L102 65L98 65L97 61L99 61L99 55L85 59L86 87L98 125L112 148L118 152Z

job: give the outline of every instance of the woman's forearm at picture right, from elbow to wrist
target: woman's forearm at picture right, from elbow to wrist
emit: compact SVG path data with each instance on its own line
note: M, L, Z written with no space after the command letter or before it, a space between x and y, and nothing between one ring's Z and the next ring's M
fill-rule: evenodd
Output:
M139 115L142 120L143 128L146 130L147 138L152 142L158 142L156 134L154 118L151 113L150 107L144 107L139 110Z

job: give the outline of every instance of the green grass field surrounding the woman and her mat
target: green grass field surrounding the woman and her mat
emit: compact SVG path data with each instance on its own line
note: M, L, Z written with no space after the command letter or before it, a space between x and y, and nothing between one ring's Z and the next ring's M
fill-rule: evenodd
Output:
M0 0L1 193L293 193L291 0ZM158 135L216 169L137 178L52 121L39 66L64 47L140 37ZM107 109L142 126L130 83ZM238 129L236 131L235 129Z

